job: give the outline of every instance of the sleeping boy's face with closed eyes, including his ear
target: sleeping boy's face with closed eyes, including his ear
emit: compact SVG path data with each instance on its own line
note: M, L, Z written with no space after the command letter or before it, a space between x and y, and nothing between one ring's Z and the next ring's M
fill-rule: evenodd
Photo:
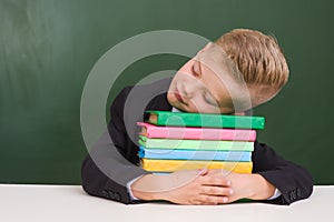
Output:
M186 112L236 113L262 104L278 92L269 85L236 81L227 73L226 70L230 69L224 68L224 62L205 59L212 57L204 53L206 50L210 49L206 47L200 50L173 78L167 93L173 107ZM217 63L223 71L213 71L217 70L214 68Z

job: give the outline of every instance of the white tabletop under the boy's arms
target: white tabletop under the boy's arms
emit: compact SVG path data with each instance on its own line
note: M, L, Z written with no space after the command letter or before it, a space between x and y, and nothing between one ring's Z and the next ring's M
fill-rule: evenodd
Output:
M334 221L334 185L315 186L308 200L289 206L263 203L228 205L125 205L87 195L79 185L0 184L1 222L202 221L286 222Z

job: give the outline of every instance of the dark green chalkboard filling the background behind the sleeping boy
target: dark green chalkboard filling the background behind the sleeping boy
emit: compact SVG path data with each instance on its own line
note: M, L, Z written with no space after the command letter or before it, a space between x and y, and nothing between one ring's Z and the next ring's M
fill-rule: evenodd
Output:
M333 184L333 7L330 0L1 0L0 183L80 183L84 84L120 41L166 29L215 40L250 28L273 33L291 68L286 88L255 109L266 117L259 140L307 168L317 184ZM112 85L108 104L122 87L177 70L186 59L135 62Z

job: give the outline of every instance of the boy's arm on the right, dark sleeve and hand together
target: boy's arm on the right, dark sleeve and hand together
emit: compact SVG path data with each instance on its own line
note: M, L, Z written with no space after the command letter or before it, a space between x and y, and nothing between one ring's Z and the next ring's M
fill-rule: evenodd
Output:
M312 176L305 169L284 160L272 148L257 141L253 152L253 173L230 172L226 174L226 180L234 191L227 196L227 202L246 198L266 203L291 204L308 198L313 191ZM275 189L282 194L268 200Z

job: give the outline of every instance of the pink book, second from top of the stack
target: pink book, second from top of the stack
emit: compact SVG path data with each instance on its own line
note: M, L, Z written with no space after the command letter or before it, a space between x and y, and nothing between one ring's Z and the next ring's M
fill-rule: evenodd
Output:
M255 141L255 130L157 127L146 122L137 122L141 127L139 134L147 138L169 138L188 140L239 140Z

